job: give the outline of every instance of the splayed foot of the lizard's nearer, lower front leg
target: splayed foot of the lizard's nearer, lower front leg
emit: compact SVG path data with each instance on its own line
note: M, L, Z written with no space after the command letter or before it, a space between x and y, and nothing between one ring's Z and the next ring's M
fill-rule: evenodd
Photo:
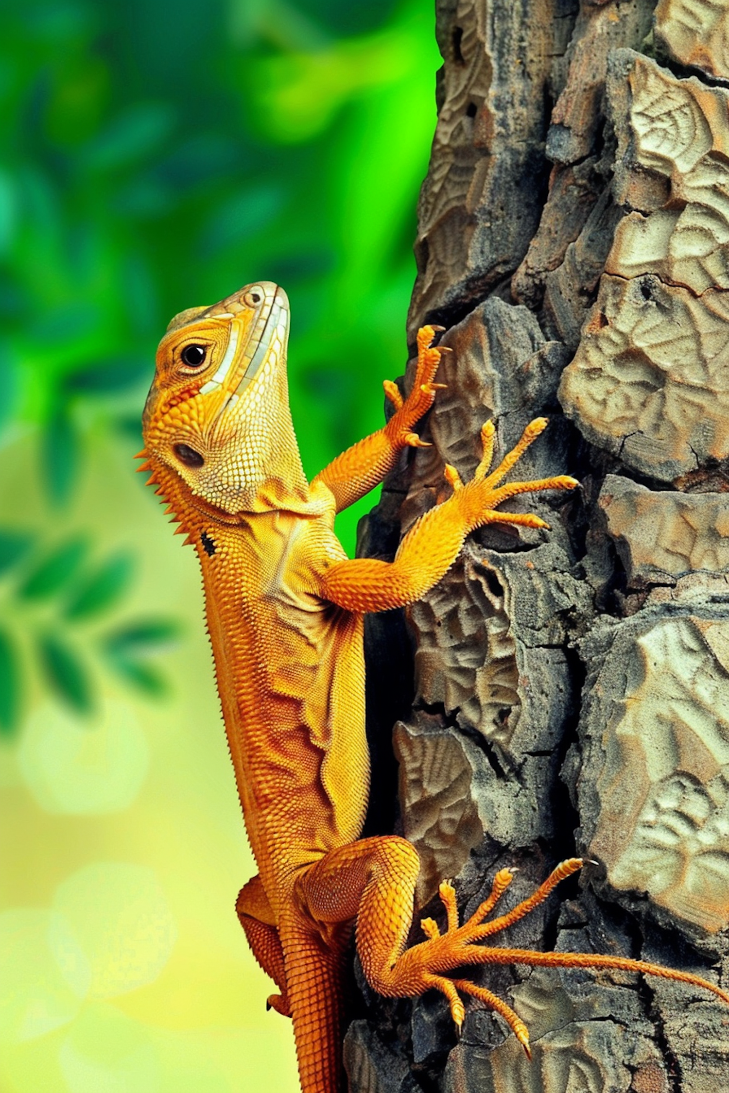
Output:
M568 474L557 474L550 479L536 479L531 482L512 482L499 486L498 483L508 474L514 465L521 458L530 444L546 428L546 418L536 418L521 434L518 444L502 459L498 467L489 473L494 455L495 427L487 421L481 428L482 456L475 473L470 482L463 483L455 467L446 463L444 475L460 493L463 504L468 506L469 526L482 527L484 524L517 524L526 528L549 528L549 524L532 513L497 513L495 508L508 497L519 493L538 493L542 490L574 490L579 483Z

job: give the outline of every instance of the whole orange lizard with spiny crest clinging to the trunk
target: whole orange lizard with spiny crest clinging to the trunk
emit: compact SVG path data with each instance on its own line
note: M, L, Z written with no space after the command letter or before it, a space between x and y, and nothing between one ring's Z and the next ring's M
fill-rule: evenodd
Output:
M529 1053L524 1022L496 995L446 973L470 964L519 963L620 968L729 994L698 976L644 961L478 944L527 915L583 865L563 861L534 894L491 921L513 873L496 873L490 896L459 926L456 894L440 885L447 930L423 919L424 941L405 949L419 870L397 836L360 839L368 794L364 730L363 613L412 603L446 573L466 537L485 524L530 528L538 516L497 512L520 493L572 490L566 475L503 485L546 425L538 418L491 471L494 426L462 483L405 534L391 563L350 561L334 514L373 489L407 446L439 386L444 346L435 327L418 334L418 366L387 425L307 482L286 385L289 301L270 282L250 284L212 307L175 316L160 343L144 410L142 470L167 501L178 531L200 559L217 689L248 838L259 873L237 913L256 959L275 982L269 999L293 1018L304 1093L341 1089L341 1022L352 930L364 973L390 997L431 988L447 998L456 1025L462 995L506 1020ZM442 328L440 328L442 329Z

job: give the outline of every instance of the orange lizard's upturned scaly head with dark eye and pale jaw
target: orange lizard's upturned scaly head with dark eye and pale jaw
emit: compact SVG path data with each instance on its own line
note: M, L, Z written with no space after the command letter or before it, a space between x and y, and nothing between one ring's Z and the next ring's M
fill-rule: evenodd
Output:
M289 299L270 281L167 327L142 432L153 480L178 516L185 502L234 516L258 507L264 483L299 486L287 340Z

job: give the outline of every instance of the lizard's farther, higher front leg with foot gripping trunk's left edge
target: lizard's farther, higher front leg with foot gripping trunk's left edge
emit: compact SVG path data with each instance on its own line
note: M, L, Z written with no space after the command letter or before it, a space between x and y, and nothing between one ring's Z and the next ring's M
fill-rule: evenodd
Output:
M403 448L430 447L413 428L433 406L435 392L444 387L433 383L440 355L450 352L445 345L433 345L438 330L443 327L421 327L418 331L415 378L407 399L396 384L385 380L385 393L395 406L387 425L353 444L315 478L314 483L324 482L334 495L338 513L374 490L392 470Z

